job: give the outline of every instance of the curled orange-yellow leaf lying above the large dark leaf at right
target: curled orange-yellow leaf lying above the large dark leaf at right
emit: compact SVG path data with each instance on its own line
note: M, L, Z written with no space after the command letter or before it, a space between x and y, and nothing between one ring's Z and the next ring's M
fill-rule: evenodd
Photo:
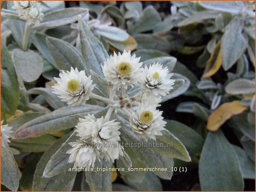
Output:
M222 104L210 116L207 122L207 129L216 131L231 116L242 113L246 107L240 101L232 101Z

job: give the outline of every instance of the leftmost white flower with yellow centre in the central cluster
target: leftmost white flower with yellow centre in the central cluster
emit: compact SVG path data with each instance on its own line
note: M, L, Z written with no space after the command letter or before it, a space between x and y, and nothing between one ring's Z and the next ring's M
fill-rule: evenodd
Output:
M91 76L87 77L84 71L71 67L69 71L60 71L60 78L54 78L57 83L53 92L70 105L85 104L95 85L92 85Z

